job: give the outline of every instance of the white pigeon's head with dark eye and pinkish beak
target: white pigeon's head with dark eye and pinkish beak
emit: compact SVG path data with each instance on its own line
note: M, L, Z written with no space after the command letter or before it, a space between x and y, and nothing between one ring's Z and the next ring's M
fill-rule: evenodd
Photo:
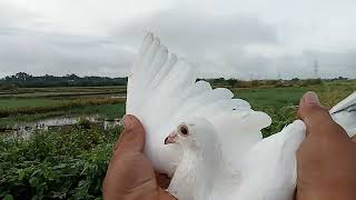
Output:
M196 150L205 144L214 131L212 124L205 118L192 118L181 122L166 139L165 144L176 143L182 149Z

